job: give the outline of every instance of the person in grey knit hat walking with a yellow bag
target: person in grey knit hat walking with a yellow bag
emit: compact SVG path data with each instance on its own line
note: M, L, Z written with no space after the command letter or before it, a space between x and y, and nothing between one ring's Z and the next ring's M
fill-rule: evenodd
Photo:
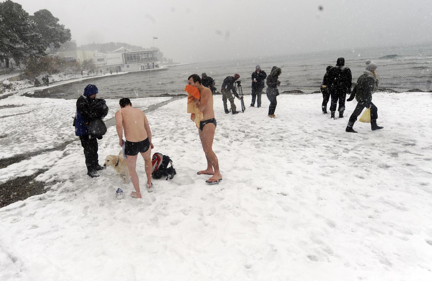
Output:
M372 94L378 90L378 79L375 70L378 68L376 63L370 60L366 61L366 69L353 88L353 92L346 101L352 101L354 97L357 100L356 109L354 109L353 114L349 117L348 125L345 131L349 133L357 133L354 131L354 122L357 121L357 117L362 113L363 108L371 109L371 129L372 131L383 129L384 127L377 125L378 119L378 107L372 103Z

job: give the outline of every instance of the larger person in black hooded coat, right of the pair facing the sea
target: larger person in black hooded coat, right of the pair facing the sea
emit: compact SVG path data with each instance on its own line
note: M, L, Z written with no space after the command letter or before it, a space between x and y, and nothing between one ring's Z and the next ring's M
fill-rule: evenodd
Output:
M340 57L337 59L336 66L330 69L330 118L334 118L336 112L337 101L339 101L339 118L343 118L343 111L345 111L345 98L347 93L351 93L351 82L353 77L351 69L345 66L345 59ZM328 86L328 85L327 85ZM327 90L327 91L328 91Z

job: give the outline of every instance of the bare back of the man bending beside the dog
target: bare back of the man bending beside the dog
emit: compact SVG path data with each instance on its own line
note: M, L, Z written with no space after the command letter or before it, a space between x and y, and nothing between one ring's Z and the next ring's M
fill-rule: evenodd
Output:
M124 136L129 142L140 142L147 139L145 129L146 117L138 108L127 106L119 110L123 119Z

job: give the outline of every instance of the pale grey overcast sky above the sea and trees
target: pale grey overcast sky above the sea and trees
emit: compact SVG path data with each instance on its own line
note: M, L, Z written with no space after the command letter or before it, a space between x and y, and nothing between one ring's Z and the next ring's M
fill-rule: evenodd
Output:
M432 41L432 0L17 0L48 9L78 45L155 46L199 62ZM319 6L323 9L320 10Z

